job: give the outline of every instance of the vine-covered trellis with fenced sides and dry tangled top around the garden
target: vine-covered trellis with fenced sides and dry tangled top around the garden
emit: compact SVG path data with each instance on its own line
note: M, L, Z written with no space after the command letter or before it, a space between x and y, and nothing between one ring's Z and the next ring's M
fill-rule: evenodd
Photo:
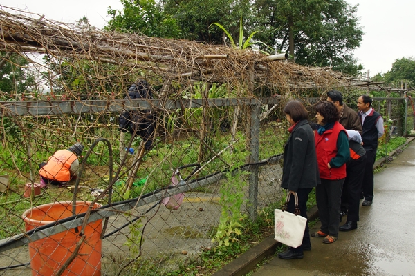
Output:
M255 219L279 197L286 126L268 120L270 112L291 98L356 84L284 54L107 32L6 7L0 28L0 67L10 63L36 80L24 92L0 92L0 175L7 179L0 266L14 274L25 275L21 264L30 262L21 245L73 228L83 233L86 221L98 219L105 275L163 275L190 262L212 246L214 229L244 214ZM148 84L152 99L126 99L138 81ZM148 137L120 132L125 110L151 114L148 148ZM82 175L68 188L37 195L37 164L76 141L86 145ZM176 175L176 187L171 169L183 175ZM25 197L27 184L33 193ZM178 210L160 204L181 193ZM24 210L62 201L102 208L26 231ZM235 234L229 235L216 235L216 242ZM64 273L71 262L64 265L56 270Z

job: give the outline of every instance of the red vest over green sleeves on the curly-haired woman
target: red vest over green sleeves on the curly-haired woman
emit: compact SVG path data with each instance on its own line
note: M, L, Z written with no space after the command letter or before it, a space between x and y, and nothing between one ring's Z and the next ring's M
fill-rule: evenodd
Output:
M322 135L315 132L315 153L317 154L317 164L320 170L320 178L338 180L346 177L346 164L340 168L331 168L327 164L337 154L337 140L340 131L344 131L344 127L336 121L333 128L324 131Z

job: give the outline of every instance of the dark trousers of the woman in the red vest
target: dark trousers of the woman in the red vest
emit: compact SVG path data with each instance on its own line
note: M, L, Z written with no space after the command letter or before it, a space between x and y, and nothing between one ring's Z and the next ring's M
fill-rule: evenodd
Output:
M320 230L338 237L340 225L340 201L344 178L339 180L321 179L322 183L315 188L318 215L322 226Z

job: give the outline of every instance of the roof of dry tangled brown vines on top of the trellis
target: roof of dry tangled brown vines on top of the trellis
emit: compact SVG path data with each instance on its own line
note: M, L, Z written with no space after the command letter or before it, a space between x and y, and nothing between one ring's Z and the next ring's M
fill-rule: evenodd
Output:
M350 83L347 76L330 68L273 61L254 50L109 32L0 8L0 50L15 52L38 72L48 72L46 86L59 87L67 94L110 90L118 95L136 79L158 87L158 97L178 97L194 81L225 83L239 97L250 97L258 88L285 94ZM30 53L45 54L53 62L33 59ZM68 75L69 67L78 80L72 85L60 78L64 72Z

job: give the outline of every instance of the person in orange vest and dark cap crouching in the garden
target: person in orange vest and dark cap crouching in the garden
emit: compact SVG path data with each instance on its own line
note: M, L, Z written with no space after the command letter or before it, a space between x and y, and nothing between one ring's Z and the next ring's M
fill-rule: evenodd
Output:
M68 181L77 176L84 145L76 143L66 150L57 150L47 162L39 165L39 175L42 186L65 186Z

